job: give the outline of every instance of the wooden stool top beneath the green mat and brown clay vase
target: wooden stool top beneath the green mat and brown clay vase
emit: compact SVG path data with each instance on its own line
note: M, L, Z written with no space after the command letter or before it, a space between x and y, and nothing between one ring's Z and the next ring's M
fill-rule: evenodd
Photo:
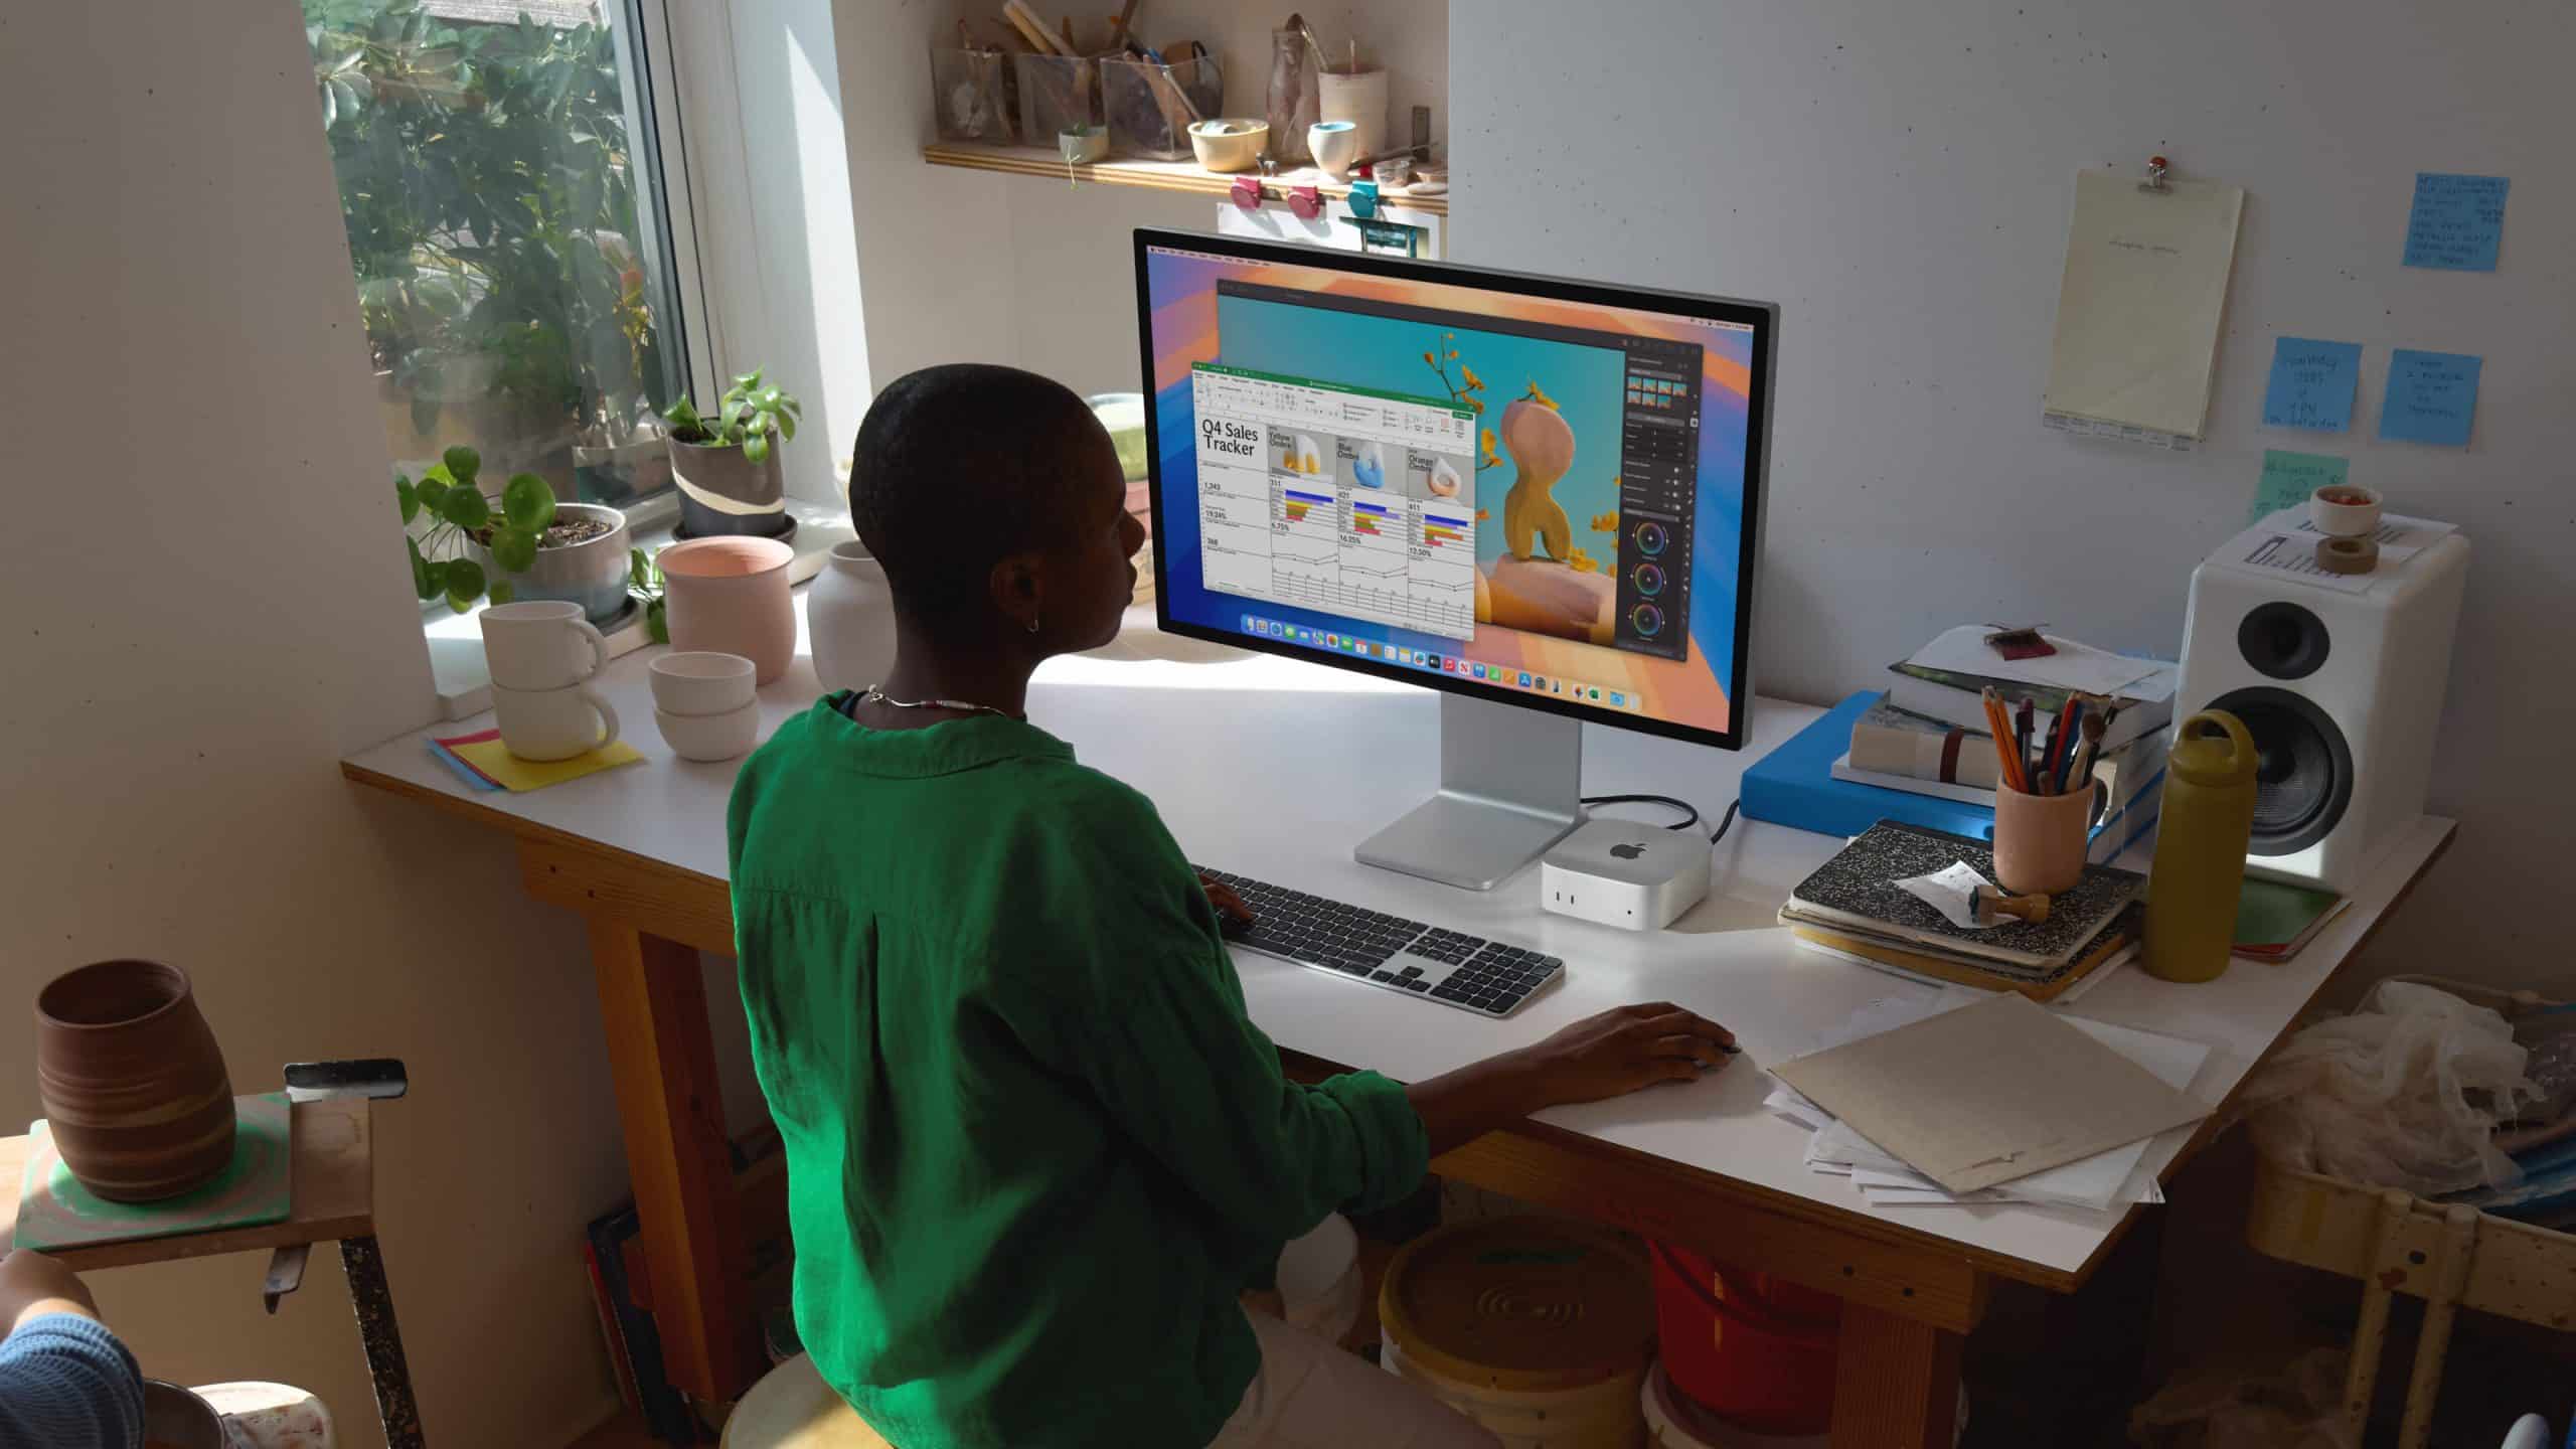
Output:
M227 1227L188 1238L149 1238L103 1248L54 1253L67 1269L129 1269L134 1263L175 1263L216 1253L250 1253L294 1243L335 1243L376 1230L376 1158L366 1098L304 1101L294 1109L294 1207L286 1222ZM0 1140L0 1181L26 1171L28 1137ZM0 1194L0 1240L15 1243L18 1199Z

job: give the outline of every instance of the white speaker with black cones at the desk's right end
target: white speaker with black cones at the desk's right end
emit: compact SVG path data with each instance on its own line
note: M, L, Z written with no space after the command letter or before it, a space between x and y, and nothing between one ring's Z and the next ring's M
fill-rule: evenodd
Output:
M2468 539L2383 562L2362 593L2246 562L2249 539L2192 570L2174 717L2226 709L2254 735L2246 871L2352 895L2424 815Z

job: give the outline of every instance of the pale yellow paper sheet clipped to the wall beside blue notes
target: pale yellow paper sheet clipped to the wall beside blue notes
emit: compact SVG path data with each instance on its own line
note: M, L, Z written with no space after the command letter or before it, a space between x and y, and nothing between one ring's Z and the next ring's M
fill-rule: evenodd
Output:
M2048 413L2202 433L2244 201L2241 186L2076 173Z

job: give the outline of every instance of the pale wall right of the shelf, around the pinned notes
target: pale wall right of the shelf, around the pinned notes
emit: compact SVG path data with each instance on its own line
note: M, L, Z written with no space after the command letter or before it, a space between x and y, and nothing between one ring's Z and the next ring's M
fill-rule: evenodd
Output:
M2349 454L2476 547L2432 799L2463 830L2372 967L2571 980L2530 905L2568 792L2530 781L2576 709L2576 10L1458 0L1450 41L1455 260L1783 304L1765 691L1839 699L1963 619L2172 652L2262 451ZM2190 456L2040 428L2071 175L2151 152L2246 188ZM2416 170L2514 178L2499 273L2398 266ZM2365 343L2365 428L2391 345L2483 353L2473 446L2262 428L2277 335ZM2004 523L2040 508L2074 541Z

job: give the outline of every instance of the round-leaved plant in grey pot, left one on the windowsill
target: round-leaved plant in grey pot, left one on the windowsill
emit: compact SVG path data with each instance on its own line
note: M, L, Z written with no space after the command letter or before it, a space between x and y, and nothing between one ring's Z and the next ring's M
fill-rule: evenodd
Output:
M564 598L592 624L626 611L623 513L556 503L554 487L533 472L510 477L500 498L484 498L479 472L482 454L448 449L417 482L394 477L402 521L430 521L420 536L404 536L420 598L443 596L459 614L477 598Z

